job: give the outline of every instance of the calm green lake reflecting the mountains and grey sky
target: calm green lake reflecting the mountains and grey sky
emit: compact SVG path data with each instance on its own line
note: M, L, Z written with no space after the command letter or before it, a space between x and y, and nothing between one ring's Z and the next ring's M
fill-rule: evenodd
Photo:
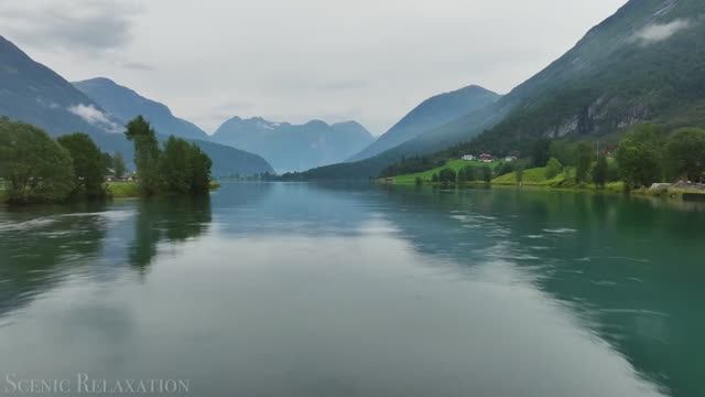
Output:
M0 208L0 395L86 373L194 396L703 396L704 238L704 207L513 190Z

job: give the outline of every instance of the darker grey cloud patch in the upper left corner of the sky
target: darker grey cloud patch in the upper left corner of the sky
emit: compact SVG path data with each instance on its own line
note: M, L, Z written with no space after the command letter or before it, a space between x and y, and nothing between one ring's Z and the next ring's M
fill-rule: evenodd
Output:
M0 1L0 24L21 44L98 54L131 41L139 11L121 0Z

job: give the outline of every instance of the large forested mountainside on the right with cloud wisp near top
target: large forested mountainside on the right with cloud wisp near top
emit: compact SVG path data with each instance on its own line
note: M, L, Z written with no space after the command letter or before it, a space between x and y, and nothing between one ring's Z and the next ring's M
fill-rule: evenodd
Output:
M458 143L446 155L525 153L541 137L619 133L643 121L705 125L703 37L705 1L631 0L496 103L371 158L310 170L301 178L377 176L404 157L432 155Z

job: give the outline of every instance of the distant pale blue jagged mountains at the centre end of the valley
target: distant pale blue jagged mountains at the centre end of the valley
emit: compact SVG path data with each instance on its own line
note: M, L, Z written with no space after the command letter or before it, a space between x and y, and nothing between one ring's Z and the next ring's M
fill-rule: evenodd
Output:
M355 121L330 126L313 120L292 125L260 117L234 117L216 130L212 140L258 153L268 159L276 171L284 172L344 161L375 138Z

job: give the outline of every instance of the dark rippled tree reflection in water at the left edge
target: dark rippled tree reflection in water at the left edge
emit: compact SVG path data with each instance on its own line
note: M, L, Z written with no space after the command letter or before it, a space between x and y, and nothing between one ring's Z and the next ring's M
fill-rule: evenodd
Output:
M84 203L31 206L1 214L0 315L26 304L70 275L67 266L91 265L107 230L102 211L105 204Z

